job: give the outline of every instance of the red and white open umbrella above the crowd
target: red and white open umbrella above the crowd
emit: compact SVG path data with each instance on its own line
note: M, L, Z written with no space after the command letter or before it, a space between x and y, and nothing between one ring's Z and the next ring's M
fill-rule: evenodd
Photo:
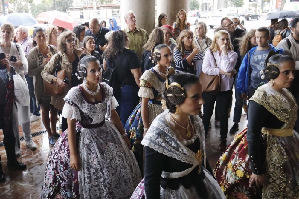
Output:
M73 30L73 28L78 25L75 19L71 18L66 13L56 10L42 12L37 15L36 18L47 21L49 24L67 28L68 30Z

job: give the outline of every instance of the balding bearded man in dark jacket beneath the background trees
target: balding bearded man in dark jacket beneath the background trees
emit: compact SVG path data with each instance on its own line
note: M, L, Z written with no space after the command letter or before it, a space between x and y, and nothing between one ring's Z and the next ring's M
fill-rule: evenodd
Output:
M108 28L101 27L99 20L93 18L89 21L89 30L85 32L85 36L93 36L96 43L96 49L99 51L100 55L103 54L105 50L104 45L108 44L108 41L105 39L105 34L109 32Z

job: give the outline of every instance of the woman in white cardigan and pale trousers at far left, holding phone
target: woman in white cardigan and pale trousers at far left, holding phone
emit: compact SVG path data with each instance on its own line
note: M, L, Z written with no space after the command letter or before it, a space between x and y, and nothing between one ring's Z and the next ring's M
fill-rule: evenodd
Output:
M11 23L4 23L1 25L1 45L0 45L0 53L5 53L6 58L10 61L10 65L15 69L16 73L18 73L22 80L25 82L26 86L27 81L25 79L25 72L28 70L28 63L25 57L25 53L20 44L16 44L12 42L14 33L14 28ZM25 93L25 98L29 99L29 92ZM36 149L36 144L32 141L31 138L31 122L30 122L30 103L28 104L19 104L16 102L18 108L18 122L14 121L14 125L22 125L22 131L24 134L26 145L32 149ZM16 124L18 123L18 124ZM16 137L16 153L20 155L20 141L19 141L19 131L15 131Z

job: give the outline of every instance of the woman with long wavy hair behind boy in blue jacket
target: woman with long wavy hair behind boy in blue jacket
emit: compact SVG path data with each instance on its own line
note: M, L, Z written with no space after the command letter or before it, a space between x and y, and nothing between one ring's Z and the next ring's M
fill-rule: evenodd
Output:
M237 71L237 74L234 78L234 87L235 87L235 108L234 108L234 125L229 130L230 134L235 134L239 130L239 122L241 120L242 115L242 107L244 108L244 111L247 112L247 103L246 100L243 100L241 97L241 93L237 89L237 79L238 79L238 71L241 66L241 63L243 61L244 56L248 53L248 51L257 46L257 42L255 40L255 31L256 29L249 30L248 33L246 33L243 37L239 38L239 50L237 52L238 58L237 63L235 66L235 69Z

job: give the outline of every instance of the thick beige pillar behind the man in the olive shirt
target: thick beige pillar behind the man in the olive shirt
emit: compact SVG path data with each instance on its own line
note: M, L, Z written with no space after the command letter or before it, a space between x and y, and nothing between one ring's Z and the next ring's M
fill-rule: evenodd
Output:
M137 27L150 34L155 28L155 0L120 0L121 30L127 27L124 16L129 10L136 15Z

